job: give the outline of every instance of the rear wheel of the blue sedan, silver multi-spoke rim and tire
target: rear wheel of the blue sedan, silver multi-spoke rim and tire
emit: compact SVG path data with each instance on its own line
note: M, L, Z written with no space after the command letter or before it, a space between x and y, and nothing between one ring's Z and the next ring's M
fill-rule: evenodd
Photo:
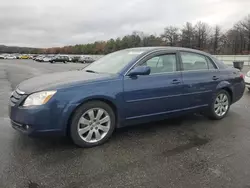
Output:
M217 105L218 107L216 108L215 105ZM229 95L229 93L224 89L218 91L212 100L212 104L209 107L208 117L213 120L223 119L227 115L230 109L230 105L231 105L231 96Z

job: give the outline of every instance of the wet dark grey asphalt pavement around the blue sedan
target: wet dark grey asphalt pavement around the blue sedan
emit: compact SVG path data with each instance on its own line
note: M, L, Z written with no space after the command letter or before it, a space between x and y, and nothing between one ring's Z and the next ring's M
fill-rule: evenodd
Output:
M223 120L189 115L123 128L90 149L11 127L8 99L21 81L84 66L0 60L1 188L250 188L248 91Z

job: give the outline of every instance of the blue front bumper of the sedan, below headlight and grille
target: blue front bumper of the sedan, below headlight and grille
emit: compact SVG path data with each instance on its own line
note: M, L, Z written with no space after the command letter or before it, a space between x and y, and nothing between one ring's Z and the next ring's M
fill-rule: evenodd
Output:
M64 105L48 103L48 105L23 107L9 104L9 117L12 127L27 135L66 134L68 114ZM66 122L66 124L65 124Z

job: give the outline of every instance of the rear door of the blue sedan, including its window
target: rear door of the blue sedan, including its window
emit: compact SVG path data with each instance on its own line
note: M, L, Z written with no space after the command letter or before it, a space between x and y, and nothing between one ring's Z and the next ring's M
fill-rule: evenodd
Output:
M185 108L198 108L210 104L221 80L219 70L206 55L181 51L182 79Z

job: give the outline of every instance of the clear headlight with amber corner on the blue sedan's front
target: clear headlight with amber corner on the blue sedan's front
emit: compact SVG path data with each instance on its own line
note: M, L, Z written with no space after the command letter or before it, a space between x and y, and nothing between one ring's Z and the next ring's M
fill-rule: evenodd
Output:
M46 104L55 93L56 91L41 91L33 93L25 99L23 106L37 106Z

